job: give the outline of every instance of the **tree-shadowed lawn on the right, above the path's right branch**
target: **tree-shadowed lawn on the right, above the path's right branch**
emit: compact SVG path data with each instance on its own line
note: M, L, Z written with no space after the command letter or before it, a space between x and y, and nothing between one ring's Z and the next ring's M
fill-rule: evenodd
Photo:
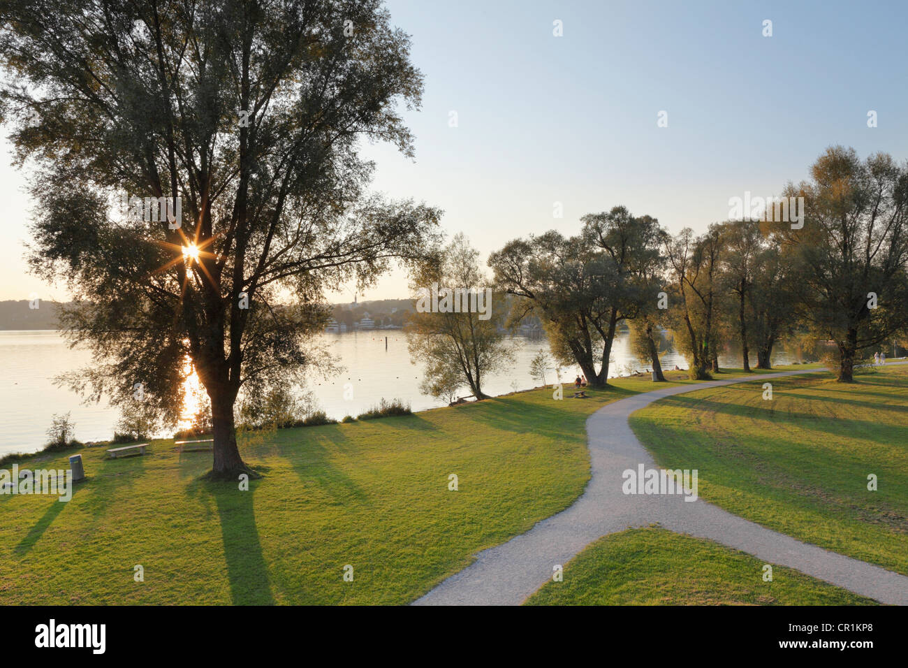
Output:
M631 416L666 468L699 471L699 495L770 529L908 574L908 368L668 397ZM875 474L878 490L869 491Z

